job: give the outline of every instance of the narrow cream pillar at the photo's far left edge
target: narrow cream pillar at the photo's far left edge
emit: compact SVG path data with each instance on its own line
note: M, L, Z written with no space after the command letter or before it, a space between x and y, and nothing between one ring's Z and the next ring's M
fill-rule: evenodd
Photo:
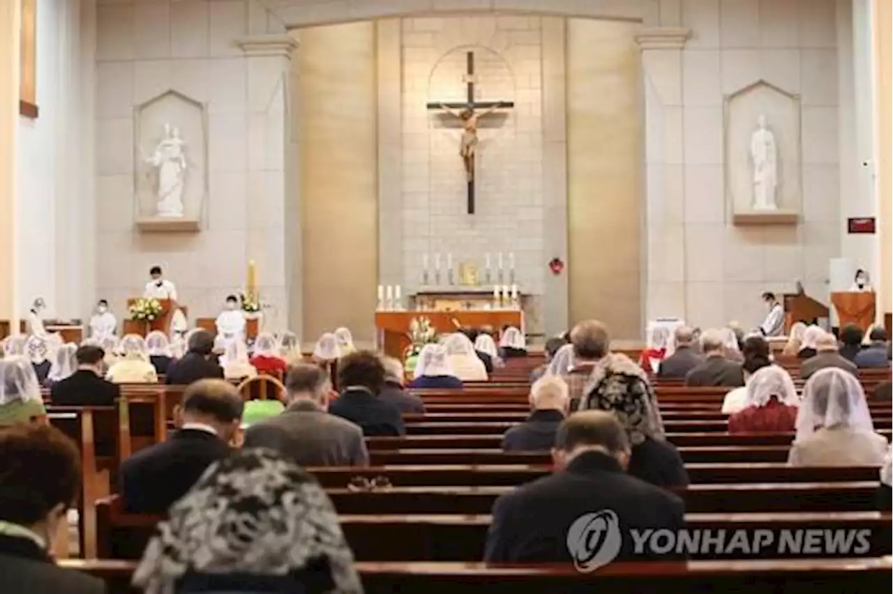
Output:
M0 319L18 328L15 295L15 136L19 122L19 2L0 3Z

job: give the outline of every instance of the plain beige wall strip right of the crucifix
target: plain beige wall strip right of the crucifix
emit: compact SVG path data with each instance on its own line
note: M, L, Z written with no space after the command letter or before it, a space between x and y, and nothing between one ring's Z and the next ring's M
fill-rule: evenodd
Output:
M599 318L641 336L641 61L630 22L567 29L570 321Z

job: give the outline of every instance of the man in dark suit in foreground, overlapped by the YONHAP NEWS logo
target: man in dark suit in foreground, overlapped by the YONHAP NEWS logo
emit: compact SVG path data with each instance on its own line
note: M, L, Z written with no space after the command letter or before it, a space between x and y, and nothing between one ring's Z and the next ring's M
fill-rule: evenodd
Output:
M569 534L578 520L587 524L584 516L601 516L601 523L588 525L615 532L620 541L605 562L654 557L647 551L634 555L630 529L678 530L685 524L682 499L624 472L630 443L610 413L586 410L568 417L555 436L553 460L555 474L522 485L493 505L484 552L488 563L588 559L595 553L589 548L605 539L594 538L594 530L577 534L581 538Z

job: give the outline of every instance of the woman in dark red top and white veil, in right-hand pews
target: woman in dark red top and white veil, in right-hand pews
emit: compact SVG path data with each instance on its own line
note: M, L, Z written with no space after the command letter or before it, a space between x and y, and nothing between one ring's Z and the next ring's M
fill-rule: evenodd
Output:
M770 365L747 379L744 406L729 417L729 433L791 433L800 399L784 368Z

